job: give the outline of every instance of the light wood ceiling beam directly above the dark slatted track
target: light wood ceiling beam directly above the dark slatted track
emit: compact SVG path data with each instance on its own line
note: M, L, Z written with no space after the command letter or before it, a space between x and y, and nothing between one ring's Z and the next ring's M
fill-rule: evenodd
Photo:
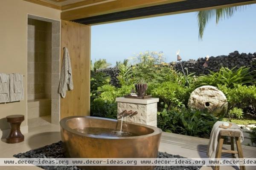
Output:
M93 17L102 14L109 14L113 12L139 9L148 6L156 6L180 1L186 0L114 0L107 3L101 3L93 6L87 6L79 9L61 12L61 19L76 20L85 17Z

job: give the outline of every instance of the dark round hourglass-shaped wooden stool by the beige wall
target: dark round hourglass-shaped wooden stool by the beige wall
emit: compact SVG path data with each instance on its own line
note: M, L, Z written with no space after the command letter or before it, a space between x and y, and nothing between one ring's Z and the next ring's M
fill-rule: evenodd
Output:
M15 144L24 141L24 136L20 132L20 124L24 121L24 115L9 115L6 119L11 125L11 132L6 137L6 143Z

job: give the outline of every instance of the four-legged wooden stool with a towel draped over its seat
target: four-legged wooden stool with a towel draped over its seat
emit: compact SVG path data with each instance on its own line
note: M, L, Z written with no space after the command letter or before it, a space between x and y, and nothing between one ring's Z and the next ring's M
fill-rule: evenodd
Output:
M224 136L230 137L231 150L222 150ZM236 140L237 151L234 150L234 138ZM238 131L221 130L218 138L218 148L217 148L215 158L221 158L221 153L231 153L232 158L236 158L235 153L237 153L239 158L244 158L240 138L241 138L241 134ZM220 166L216 165L215 170L219 170L219 169L220 169ZM245 167L240 165L240 170L245 170Z

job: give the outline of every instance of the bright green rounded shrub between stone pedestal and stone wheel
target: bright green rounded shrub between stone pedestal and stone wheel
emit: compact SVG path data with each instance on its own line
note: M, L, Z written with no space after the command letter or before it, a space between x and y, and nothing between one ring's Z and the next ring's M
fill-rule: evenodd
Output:
M148 84L148 94L159 98L160 102L168 106L181 106L187 104L190 89L176 82L151 83Z

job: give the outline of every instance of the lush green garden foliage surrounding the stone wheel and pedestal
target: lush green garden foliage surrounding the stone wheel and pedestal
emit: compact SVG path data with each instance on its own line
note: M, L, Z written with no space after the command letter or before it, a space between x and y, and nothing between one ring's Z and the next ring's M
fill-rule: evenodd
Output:
M222 67L209 75L195 76L188 72L184 75L164 62L162 52L140 53L129 63L125 61L117 66L120 87L110 85L104 73L92 71L91 115L116 118L116 97L129 94L134 90L134 83L141 80L148 84L147 94L160 99L157 126L167 132L208 137L213 124L221 119L206 111L186 109L191 92L198 86L212 85L224 92L230 118L241 119L244 108L256 108L255 80L249 68Z

